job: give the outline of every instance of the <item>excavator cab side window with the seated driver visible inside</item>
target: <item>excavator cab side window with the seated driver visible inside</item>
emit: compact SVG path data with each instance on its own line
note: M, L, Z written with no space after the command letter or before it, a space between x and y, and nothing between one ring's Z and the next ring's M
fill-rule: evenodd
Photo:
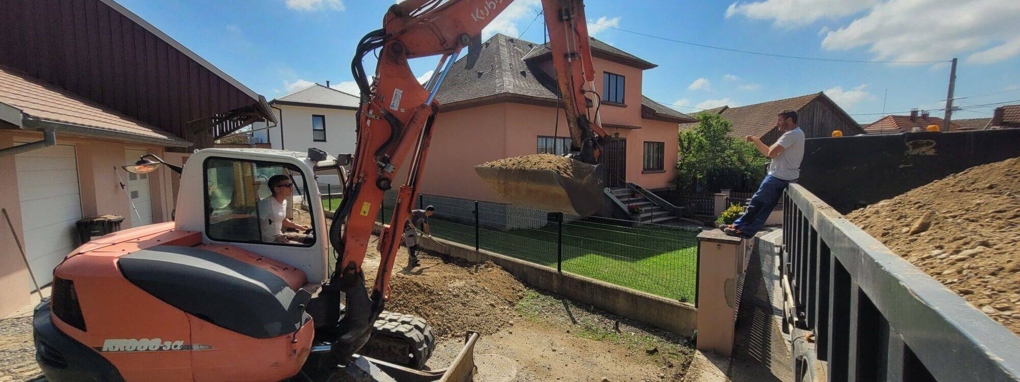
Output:
M302 247L315 242L311 230L300 229L310 227L313 219L311 213L298 208L307 198L307 189L296 166L209 158L204 169L209 238Z

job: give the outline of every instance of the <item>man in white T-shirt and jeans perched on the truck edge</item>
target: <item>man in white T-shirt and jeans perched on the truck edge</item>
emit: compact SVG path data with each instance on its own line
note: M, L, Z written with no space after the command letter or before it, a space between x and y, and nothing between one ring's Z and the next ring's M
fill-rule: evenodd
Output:
M765 220L779 203L786 185L801 177L801 160L804 159L804 130L797 126L797 112L783 110L778 115L776 127L782 135L771 147L765 146L758 137L748 135L747 141L755 144L762 155L772 159L768 175L751 198L748 212L730 225L722 225L728 235L751 238L765 225Z

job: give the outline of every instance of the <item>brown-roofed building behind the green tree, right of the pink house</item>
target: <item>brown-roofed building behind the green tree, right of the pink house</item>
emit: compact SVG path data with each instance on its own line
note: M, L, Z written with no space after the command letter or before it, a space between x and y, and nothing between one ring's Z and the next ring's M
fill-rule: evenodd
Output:
M822 92L754 105L722 106L702 113L716 113L729 120L733 137L760 137L766 145L771 145L779 139L775 122L776 115L783 110L797 111L798 125L807 138L831 137L833 130L840 130L844 135L864 133L861 125ZM684 123L680 129L694 125Z

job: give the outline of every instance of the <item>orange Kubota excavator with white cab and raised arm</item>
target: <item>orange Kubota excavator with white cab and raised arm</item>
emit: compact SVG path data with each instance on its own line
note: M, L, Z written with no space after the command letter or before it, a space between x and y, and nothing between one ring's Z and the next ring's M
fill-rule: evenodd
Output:
M423 370L435 347L430 327L384 309L401 222L417 196L440 110L436 95L464 48L467 66L473 65L481 30L511 2L406 0L391 6L382 29L361 39L352 61L362 100L353 154L206 149L183 167L153 155L124 166L136 174L160 165L181 173L174 221L99 237L56 267L52 298L34 317L45 379L471 380L477 333L467 333L449 368ZM582 1L543 0L543 8L570 156L597 165L606 133L597 117L589 117L595 71ZM374 51L378 63L369 83L362 60ZM438 70L422 86L407 60L435 55L442 55ZM399 186L390 220L396 223L379 233L380 260L369 290L365 254L384 193L405 161L410 172ZM543 183L547 174L534 171L486 176L504 184L536 183L567 198L602 192L600 182L585 189L562 179ZM337 175L344 188L329 225L314 181L322 173ZM512 192L526 185L506 189L511 201L534 202ZM309 228L284 232L282 221L297 203L307 211L301 214L308 215Z

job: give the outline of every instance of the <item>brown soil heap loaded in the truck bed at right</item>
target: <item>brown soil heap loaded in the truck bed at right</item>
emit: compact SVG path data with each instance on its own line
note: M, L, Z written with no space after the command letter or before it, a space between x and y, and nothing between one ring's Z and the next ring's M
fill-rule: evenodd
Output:
M1020 158L971 167L847 218L1020 334Z

